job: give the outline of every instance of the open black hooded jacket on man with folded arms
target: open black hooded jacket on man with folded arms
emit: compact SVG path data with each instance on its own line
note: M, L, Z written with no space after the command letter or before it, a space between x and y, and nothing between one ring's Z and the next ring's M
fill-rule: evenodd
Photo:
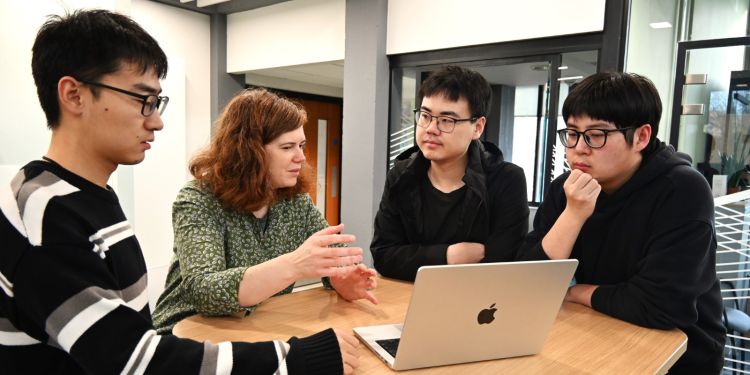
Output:
M515 164L503 161L492 143L472 141L463 181L468 188L456 231L459 242L485 245L483 262L511 261L528 231L526 178ZM426 238L420 184L430 161L415 146L388 172L370 250L383 276L414 280L425 265L446 264L448 243Z

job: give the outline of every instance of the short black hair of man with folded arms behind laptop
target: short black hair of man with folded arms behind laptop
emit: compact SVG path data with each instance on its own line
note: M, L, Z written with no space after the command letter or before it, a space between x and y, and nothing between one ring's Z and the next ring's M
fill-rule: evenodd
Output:
M492 102L492 88L484 77L469 69L449 65L430 74L419 88L419 99L443 95L451 101L469 102L471 117L487 116Z

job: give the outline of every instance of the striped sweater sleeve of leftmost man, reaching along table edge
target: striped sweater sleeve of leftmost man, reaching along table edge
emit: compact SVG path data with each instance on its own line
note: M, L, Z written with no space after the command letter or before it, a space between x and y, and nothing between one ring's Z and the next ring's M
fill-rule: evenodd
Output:
M35 345L64 352L84 373L342 372L331 330L288 343L215 345L158 335L148 314L145 274L119 286L107 263L84 244L28 249L13 279L14 326L39 341Z

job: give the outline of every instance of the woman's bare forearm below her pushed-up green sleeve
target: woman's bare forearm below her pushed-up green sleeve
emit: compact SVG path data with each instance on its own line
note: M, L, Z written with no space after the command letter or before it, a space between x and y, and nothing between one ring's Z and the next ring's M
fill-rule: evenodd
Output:
M287 258L284 254L245 270L238 291L240 306L257 305L297 281Z

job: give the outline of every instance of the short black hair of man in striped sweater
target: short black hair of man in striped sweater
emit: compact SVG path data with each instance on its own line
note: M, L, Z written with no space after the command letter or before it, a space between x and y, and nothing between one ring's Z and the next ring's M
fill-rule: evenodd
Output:
M135 21L107 10L78 10L53 15L37 33L32 48L31 71L39 102L54 129L60 120L57 83L65 76L96 82L132 63L146 73L154 69L167 75L167 56L159 44ZM97 95L95 87L92 87Z

